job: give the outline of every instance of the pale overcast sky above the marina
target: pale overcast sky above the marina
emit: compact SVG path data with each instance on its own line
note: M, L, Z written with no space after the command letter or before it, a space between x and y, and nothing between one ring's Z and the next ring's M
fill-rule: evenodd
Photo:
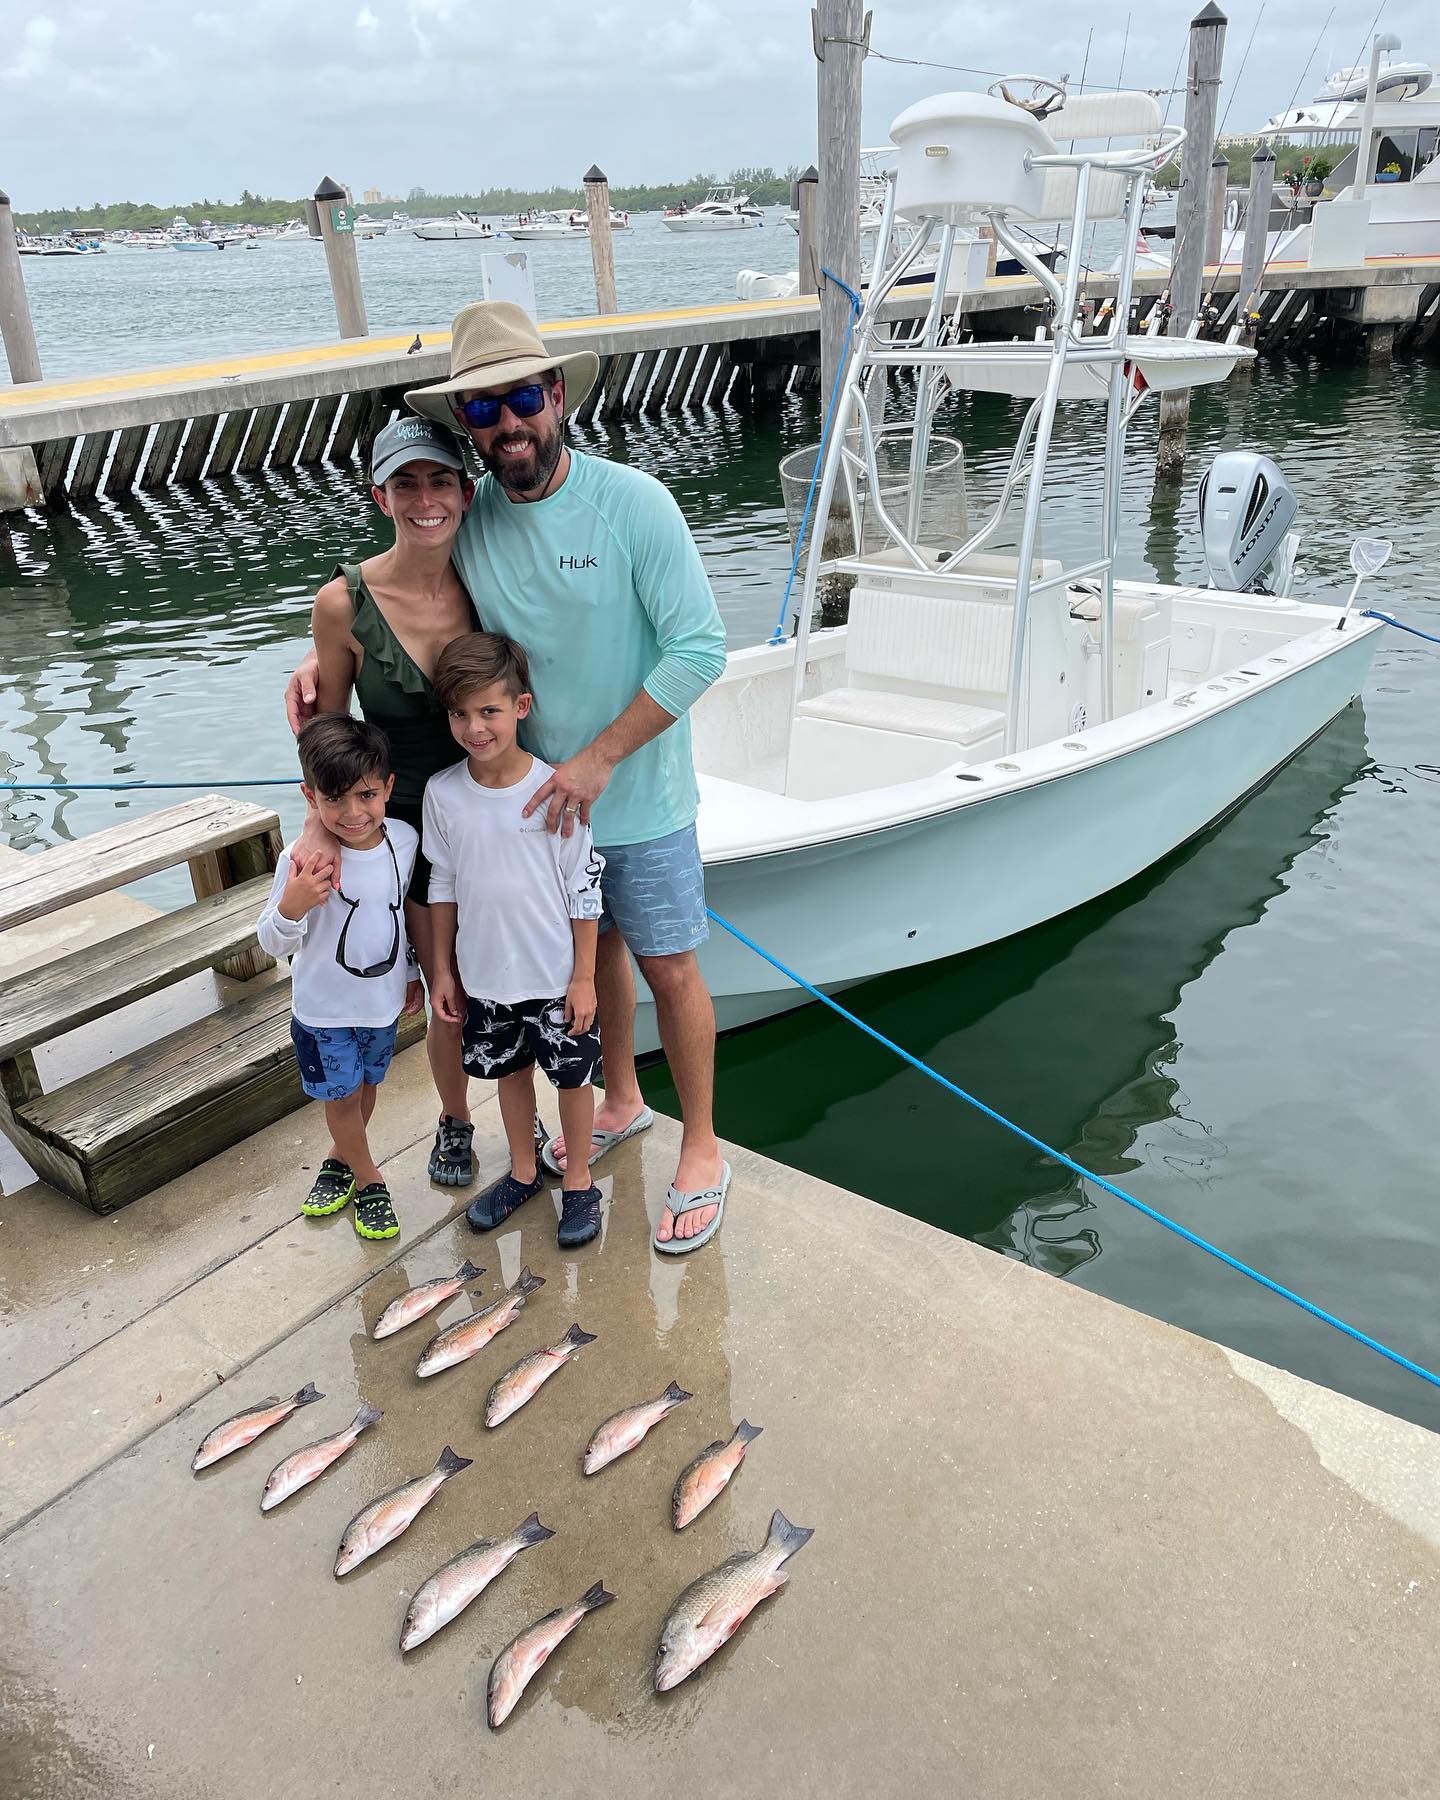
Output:
M1222 0L1228 4L1228 0ZM1361 61L1373 0L1235 0L1231 131ZM1121 5L875 0L871 49L1114 85ZM1125 85L1175 77L1197 0L1130 16ZM1429 16L1429 34L1422 22ZM1103 18L1103 23L1102 23ZM1258 29L1256 29L1258 18ZM1386 0L1381 29L1440 59L1433 0ZM1240 70L1251 31L1244 72ZM1319 45L1316 40L1319 34ZM1307 58L1314 50L1309 72ZM873 56L864 137L911 101L986 76ZM1174 101L1177 122L1183 101ZM815 157L815 63L801 0L0 0L0 187L18 211L94 200L295 196L322 175L360 194L682 178Z

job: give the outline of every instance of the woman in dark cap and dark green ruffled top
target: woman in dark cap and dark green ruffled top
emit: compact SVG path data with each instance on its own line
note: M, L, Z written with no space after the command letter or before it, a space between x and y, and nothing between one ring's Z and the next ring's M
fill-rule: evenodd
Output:
M376 506L394 524L394 544L364 562L340 563L315 596L315 659L292 675L284 698L290 727L299 731L313 713L347 713L355 695L365 718L391 740L389 810L419 832L425 783L459 758L448 715L430 691L436 657L452 637L481 628L450 562L475 484L455 439L414 418L376 436L371 482ZM331 857L338 868L338 846L313 812L301 848ZM430 864L419 853L405 925L427 986L436 974L428 882ZM441 1102L430 1179L468 1186L475 1175L473 1125L459 1026L432 1013L425 1048Z

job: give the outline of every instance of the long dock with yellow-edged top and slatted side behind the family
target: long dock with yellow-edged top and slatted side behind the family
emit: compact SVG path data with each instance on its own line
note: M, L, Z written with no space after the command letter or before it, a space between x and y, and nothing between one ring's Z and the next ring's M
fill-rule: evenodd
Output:
M1168 272L1136 279L1136 319L1165 304ZM1242 304L1237 265L1206 270L1206 335L1224 335ZM1085 279L1093 317L1114 275ZM929 288L891 301L905 333ZM992 277L968 293L963 329L1030 337L1044 317L1030 277ZM1440 257L1314 270L1271 265L1247 322L1262 356L1336 349L1382 358L1420 351L1440 331ZM767 407L819 385L819 302L733 301L542 326L556 351L594 349L601 374L574 423L625 425L700 407ZM416 337L419 349L414 349ZM448 374L443 328L270 351L175 369L0 389L0 511L86 504L133 488L167 488L263 468L364 463L405 389ZM31 461L32 457L32 461Z

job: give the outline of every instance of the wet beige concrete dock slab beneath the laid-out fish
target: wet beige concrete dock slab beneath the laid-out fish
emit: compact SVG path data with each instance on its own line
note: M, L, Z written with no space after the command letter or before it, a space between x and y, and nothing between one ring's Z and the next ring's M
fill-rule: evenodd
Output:
M0 1791L1435 1793L1440 1440L1292 1377L1274 1399L1211 1345L743 1150L716 1244L662 1262L675 1143L661 1120L601 1165L583 1251L549 1199L495 1237L432 1228L0 1539ZM522 1264L545 1287L421 1382L470 1301L369 1327L466 1255L481 1305ZM598 1341L486 1431L491 1381L572 1321ZM695 1399L583 1478L590 1429L671 1379ZM220 1418L304 1381L320 1404L191 1474ZM362 1399L383 1420L261 1516L268 1469ZM675 1474L740 1417L763 1435L677 1535ZM351 1516L445 1444L473 1465L337 1582ZM1406 1507L1346 1456L1404 1469ZM815 1528L790 1586L657 1697L670 1602L776 1507ZM556 1535L401 1658L416 1586L531 1510ZM616 1604L490 1733L497 1651L599 1579Z

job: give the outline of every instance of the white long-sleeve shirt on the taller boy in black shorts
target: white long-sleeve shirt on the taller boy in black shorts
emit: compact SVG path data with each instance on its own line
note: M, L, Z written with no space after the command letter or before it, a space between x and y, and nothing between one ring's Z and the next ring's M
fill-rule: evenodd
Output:
M455 961L470 999L558 999L574 974L571 920L601 914L605 859L576 821L569 837L545 828L545 810L522 808L554 774L538 756L508 788L481 787L466 763L425 787L430 902L452 900Z

